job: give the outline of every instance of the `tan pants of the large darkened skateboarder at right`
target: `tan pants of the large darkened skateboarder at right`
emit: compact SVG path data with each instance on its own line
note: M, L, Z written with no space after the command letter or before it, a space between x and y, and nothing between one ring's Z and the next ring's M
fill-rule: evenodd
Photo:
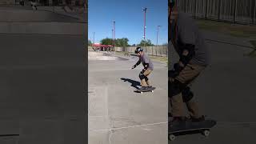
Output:
M187 64L185 68L180 72L180 74L175 78L179 82L190 84L190 82L194 81L195 78L204 70L205 66L198 66L195 64ZM174 79L169 79L171 82L174 82ZM170 98L170 105L173 117L184 117L185 114L185 106L182 98L182 93L174 95ZM190 113L190 117L199 118L198 104L194 102L194 98L192 98L189 102L186 102L186 108Z

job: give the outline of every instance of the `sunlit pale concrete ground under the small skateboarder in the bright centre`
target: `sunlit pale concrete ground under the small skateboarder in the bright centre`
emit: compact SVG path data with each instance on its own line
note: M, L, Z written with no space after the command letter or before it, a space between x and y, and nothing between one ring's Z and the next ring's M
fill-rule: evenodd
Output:
M150 81L156 90L139 94L134 90L142 66L131 70L137 61L89 59L90 144L167 143L167 66L154 62Z

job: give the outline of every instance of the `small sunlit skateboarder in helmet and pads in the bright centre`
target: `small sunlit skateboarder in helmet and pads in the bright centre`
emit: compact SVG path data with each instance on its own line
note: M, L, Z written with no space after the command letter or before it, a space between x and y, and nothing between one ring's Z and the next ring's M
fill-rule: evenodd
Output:
M138 77L141 79L141 85L142 87L140 90L146 90L148 88L151 88L150 81L148 76L154 69L153 63L150 61L150 58L147 54L143 52L142 47L137 47L135 50L135 54L138 54L138 62L132 67L134 69L136 66L138 66L140 63L144 66L144 69L140 72Z

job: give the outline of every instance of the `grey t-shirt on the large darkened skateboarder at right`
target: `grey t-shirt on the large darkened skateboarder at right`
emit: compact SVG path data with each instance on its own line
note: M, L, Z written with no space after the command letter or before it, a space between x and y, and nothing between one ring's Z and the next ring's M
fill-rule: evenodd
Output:
M193 44L195 55L191 59L191 63L198 64L201 66L207 66L210 62L210 55L206 42L198 30L194 19L191 18L188 14L179 12L177 20L177 40L182 44ZM181 54L181 51L178 50L179 46L174 46L174 49Z

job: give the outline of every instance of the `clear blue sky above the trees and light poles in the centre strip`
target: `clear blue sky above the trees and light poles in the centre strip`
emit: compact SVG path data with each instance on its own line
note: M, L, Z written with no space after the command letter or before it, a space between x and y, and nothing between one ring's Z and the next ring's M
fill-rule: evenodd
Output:
M129 44L138 44L143 39L144 12L146 7L146 39L156 44L167 43L167 0L88 0L88 38L100 42L112 38L115 21L115 38L128 38ZM95 36L94 36L95 32Z

